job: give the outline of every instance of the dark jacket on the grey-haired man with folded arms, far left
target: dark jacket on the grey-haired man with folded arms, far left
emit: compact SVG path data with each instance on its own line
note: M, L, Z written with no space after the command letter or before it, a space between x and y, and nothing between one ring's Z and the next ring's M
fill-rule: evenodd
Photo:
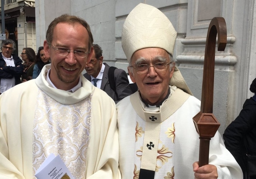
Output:
M15 67L6 66L6 63L3 58L3 54L0 53L0 83L1 78L13 78L15 77L15 85L21 83L20 77L23 74L24 67L22 65L22 60L17 56L13 55L13 61L15 64Z

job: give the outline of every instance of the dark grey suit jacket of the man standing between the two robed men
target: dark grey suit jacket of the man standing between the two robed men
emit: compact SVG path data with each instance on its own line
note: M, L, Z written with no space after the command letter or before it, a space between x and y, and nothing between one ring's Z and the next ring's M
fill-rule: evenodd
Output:
M103 72L103 77L101 81L100 89L105 91L114 101L117 103L122 100L124 97L131 95L132 89L129 87L129 80L127 74L122 69L115 69L114 78L115 78L115 91L111 89L109 80L108 80L108 64L104 63L105 69ZM91 76L87 73L84 74L84 77L91 81Z

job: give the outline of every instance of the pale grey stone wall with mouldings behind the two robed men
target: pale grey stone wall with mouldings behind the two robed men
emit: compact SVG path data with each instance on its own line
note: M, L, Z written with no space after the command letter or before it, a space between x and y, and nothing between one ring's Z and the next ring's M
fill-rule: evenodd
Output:
M160 9L177 31L174 59L195 97L201 99L204 50L209 23L223 17L227 24L227 46L215 54L213 113L226 126L253 94L256 77L256 4L254 0L36 0L36 46L42 46L49 23L61 14L85 19L94 43L103 49L104 61L127 71L121 47L126 16L139 3ZM255 11L255 13L254 13ZM192 120L192 119L191 119Z

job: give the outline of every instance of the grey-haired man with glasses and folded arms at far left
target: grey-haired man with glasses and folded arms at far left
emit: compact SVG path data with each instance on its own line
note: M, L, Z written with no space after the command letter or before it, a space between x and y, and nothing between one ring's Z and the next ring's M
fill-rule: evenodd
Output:
M0 94L21 83L20 77L23 74L24 67L22 60L17 55L12 54L15 47L15 42L11 39L3 40L1 43Z

